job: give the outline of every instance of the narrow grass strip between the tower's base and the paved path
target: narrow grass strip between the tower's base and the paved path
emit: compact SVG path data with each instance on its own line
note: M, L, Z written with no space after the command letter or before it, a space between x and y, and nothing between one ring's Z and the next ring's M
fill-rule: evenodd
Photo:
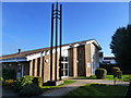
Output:
M47 91L47 90L50 90L52 88L56 88L56 87L61 87L63 85L67 85L67 84L71 84L71 83L74 83L75 81L69 81L69 79L64 79L63 81L63 84L61 85L58 85L58 86L43 86L41 88L44 89L44 91Z

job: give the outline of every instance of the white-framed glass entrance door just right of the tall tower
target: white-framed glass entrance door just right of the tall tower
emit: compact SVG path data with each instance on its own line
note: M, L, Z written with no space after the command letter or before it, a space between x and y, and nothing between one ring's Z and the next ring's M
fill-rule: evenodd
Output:
M62 71L62 73L61 73L62 77L69 76L69 65L68 65L68 62L62 62L61 63L61 71Z

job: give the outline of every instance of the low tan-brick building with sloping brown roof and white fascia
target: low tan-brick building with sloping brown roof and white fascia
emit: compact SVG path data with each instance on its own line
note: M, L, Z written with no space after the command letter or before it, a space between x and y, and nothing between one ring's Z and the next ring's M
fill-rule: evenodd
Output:
M95 39L62 45L62 78L93 75L99 66L100 49ZM59 58L59 46L57 50ZM52 79L55 79L55 48L52 53ZM41 76L44 82L50 81L50 48L3 56L0 57L0 62L2 68L15 69L16 77L33 75ZM57 62L57 77L59 78L59 60Z

